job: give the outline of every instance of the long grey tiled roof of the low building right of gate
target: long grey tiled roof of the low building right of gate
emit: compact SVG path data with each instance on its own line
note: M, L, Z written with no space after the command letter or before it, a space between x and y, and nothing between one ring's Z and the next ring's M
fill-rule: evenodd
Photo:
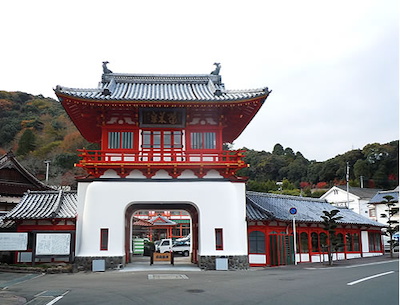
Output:
M296 221L322 222L322 211L339 209L338 216L343 218L338 223L372 225L383 227L385 225L370 220L349 209L340 209L332 206L325 200L309 197L277 195L270 193L247 192L247 218L249 220L282 220L291 221L289 213L291 208L297 209Z

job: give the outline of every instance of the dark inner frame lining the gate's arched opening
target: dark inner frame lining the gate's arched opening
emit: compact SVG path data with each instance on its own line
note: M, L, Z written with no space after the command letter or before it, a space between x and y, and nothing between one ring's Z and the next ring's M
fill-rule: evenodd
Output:
M197 207L190 202L131 202L125 211L125 260L132 262L132 226L133 215L138 210L184 210L189 213L191 219L190 234L192 253L190 261L198 263L198 231L199 216Z

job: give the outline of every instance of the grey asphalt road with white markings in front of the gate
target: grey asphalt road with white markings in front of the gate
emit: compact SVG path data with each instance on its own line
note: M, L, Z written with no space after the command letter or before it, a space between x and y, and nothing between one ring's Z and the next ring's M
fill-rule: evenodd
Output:
M398 260L334 267L300 264L247 271L0 274L3 293L38 304L399 304ZM25 278L21 281L22 277ZM5 300L5 299L4 299ZM23 304L4 303L1 304Z

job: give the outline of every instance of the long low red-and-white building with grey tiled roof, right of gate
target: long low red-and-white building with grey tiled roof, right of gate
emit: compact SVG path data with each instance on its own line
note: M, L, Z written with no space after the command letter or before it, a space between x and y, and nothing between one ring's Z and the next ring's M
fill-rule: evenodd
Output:
M296 225L296 262L323 262L327 257L327 231L323 211L339 210L336 236L342 245L333 259L382 255L381 229L370 220L326 200L270 193L246 192L250 266L293 263L293 221ZM288 252L289 251L289 252Z

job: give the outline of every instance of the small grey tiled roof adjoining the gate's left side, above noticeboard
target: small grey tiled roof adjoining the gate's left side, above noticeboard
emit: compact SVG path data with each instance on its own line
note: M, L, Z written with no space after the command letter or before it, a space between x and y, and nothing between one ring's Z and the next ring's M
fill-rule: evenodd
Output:
M76 215L76 192L28 191L5 219L65 219Z

